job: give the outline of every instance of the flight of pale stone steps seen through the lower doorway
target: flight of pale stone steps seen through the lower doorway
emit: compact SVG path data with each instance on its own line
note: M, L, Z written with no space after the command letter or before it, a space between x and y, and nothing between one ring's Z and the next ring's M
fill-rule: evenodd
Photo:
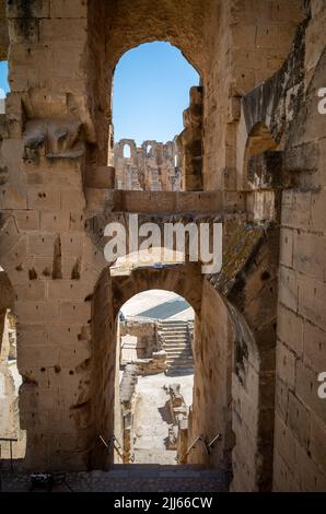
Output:
M162 320L159 334L166 352L166 375L188 375L194 373L194 358L188 324L183 320Z

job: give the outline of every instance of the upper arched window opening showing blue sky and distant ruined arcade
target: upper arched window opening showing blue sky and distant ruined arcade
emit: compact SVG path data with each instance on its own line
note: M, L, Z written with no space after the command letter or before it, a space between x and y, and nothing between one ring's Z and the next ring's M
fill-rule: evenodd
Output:
M184 141L189 149L196 148L197 153L190 155L190 150L186 151L185 155L188 159L179 163L179 167L184 167L184 173L189 176L196 162L197 168L194 170L194 175L200 175L198 165L201 166L201 154L198 154L198 149L201 149L201 141L198 144L198 138L201 139L201 132L197 129L200 124L196 119L196 129L184 127L184 119L194 118L194 116L184 118L185 109L190 108L194 113L201 113L197 104L196 109L191 107L196 96L194 90L200 90L199 81L197 71L181 50L168 43L145 43L123 55L114 78L115 149L125 139L135 141L138 177L128 179L126 163L118 157L118 152L114 151L116 184L119 188L130 189L131 184L131 189L181 190L182 184L190 184L190 179L182 180L182 173L176 176L173 159L173 154L177 151L176 139L184 131L187 131L186 138L181 136L178 144L183 144ZM196 97L198 100L200 95ZM193 136L196 143L191 142ZM148 141L153 141L153 144L147 144ZM161 147L162 151L156 151ZM155 178L152 176L153 163L158 168L159 179L156 175Z

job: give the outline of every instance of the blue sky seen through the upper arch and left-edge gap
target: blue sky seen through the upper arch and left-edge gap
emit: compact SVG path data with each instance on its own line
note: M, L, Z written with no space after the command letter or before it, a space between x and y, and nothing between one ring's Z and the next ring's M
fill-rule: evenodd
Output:
M0 97L9 91L7 62L0 62ZM115 141L166 142L183 130L189 89L197 71L168 43L147 43L125 54L114 77Z

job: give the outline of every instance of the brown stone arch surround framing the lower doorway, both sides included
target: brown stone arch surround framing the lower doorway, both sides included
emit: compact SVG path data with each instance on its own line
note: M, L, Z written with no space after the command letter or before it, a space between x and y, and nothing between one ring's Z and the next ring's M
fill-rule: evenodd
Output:
M135 294L153 289L174 291L183 296L195 312L194 398L185 446L190 446L199 435L203 435L206 443L209 443L221 434L220 442L209 455L205 444L199 443L187 456L186 462L228 470L231 466L233 445L232 327L228 308L217 291L202 279L198 265L195 264L164 266L162 269L135 268L127 276L113 277L107 269L100 278L93 299L92 322L97 354L92 378L96 398L97 432L109 439L116 430L116 317L121 306ZM101 445L95 447L92 467L106 466L112 460L113 456L107 457Z

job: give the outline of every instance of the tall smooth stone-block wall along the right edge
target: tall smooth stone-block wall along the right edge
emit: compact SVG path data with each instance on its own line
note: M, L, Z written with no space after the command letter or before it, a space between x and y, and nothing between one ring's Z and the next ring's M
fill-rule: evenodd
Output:
M301 108L289 136L298 185L282 196L273 483L276 490L325 491L326 400L317 375L326 371L325 2L312 1L305 34Z

